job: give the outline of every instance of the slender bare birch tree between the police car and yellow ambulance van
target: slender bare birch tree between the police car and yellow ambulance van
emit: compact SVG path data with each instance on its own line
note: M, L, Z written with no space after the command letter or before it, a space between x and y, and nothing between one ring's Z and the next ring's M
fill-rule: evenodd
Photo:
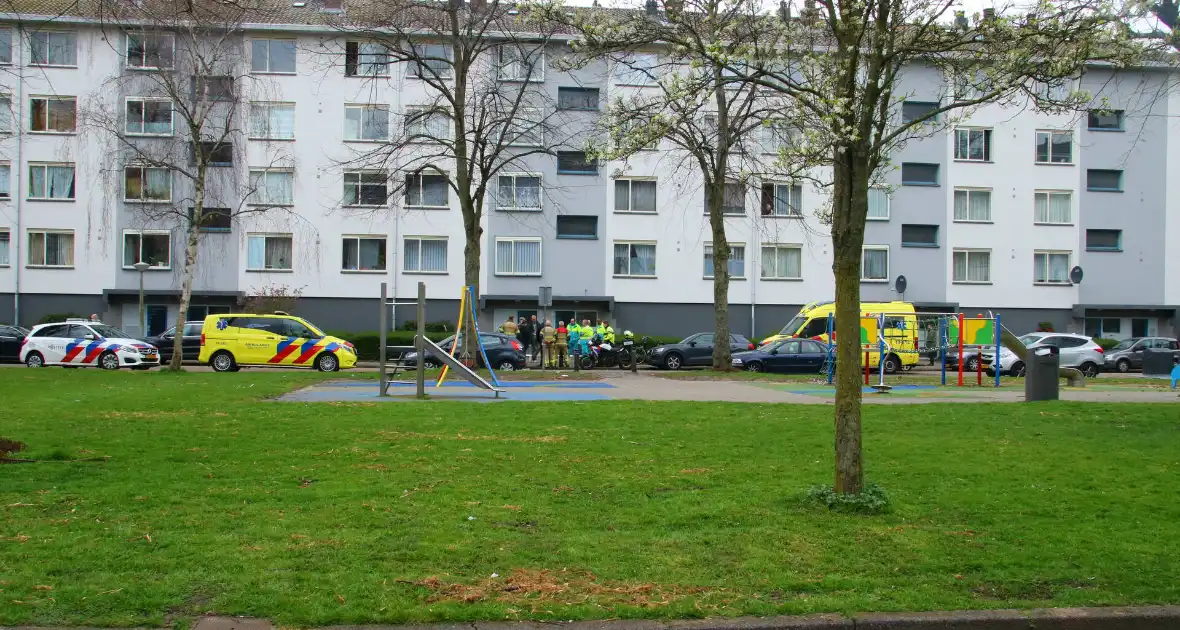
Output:
M273 209L289 212L291 172L247 175L242 168L243 94L263 88L251 84L243 26L261 7L238 0L105 0L98 9L106 41L131 70L106 81L80 118L97 139L113 143L106 181L120 193L107 198L122 199L148 225L184 235L184 317L203 228ZM251 111L250 137L273 137L271 113ZM268 166L291 165L290 156L267 152ZM182 336L170 369L181 369Z

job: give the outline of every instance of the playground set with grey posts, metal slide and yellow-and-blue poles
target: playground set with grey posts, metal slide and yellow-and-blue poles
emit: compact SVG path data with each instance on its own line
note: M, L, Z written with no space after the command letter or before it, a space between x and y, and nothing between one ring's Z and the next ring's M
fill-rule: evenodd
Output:
M471 300L468 300L468 295L471 296ZM463 298L460 300L460 303L459 303L459 329L460 330L463 329L464 315L467 314L467 313L470 313L470 315L472 317L473 327L476 329L477 346L479 347L479 353L480 353L480 355L483 355L484 363L486 365L487 363L487 355L484 353L484 344L483 344L483 342L479 341L479 328L478 328L478 323L476 323L474 309L470 308L470 303L473 302L473 301L474 301L474 290L472 290L470 287L464 287L464 295L463 295ZM396 308L398 307L406 307L406 306L417 306L418 307L418 313L417 313L417 316L418 316L418 333L414 335L414 344L413 346L389 346L387 343L387 341L388 341L388 329L389 329L392 322L396 321ZM467 307L467 308L465 309L465 307ZM380 360L380 366L378 368L378 370L380 373L379 395L381 395L381 396L389 395L389 386L391 385L394 385L394 383L398 383L398 385L409 385L411 382L413 382L417 386L415 398L418 398L419 400L425 399L426 398L426 350L427 349L431 352L431 356L437 357L440 361L442 361L442 366L444 366L442 367L442 374L439 375L439 380L435 383L435 387L442 385L442 380L446 378L447 369L453 369L453 370L455 370L455 373L458 373L460 376L463 376L471 385L473 385L476 387L479 387L479 388L483 388L483 389L487 389L490 392L493 392L496 394L496 398L499 398L500 393L504 392L504 389L500 389L498 387L499 382L496 381L496 373L491 373L492 382L487 382L487 380L485 380L483 376L480 376L479 374L477 374L476 370L473 370L471 367L466 366L463 361L459 361L458 359L454 357L454 349L461 342L461 335L460 334L455 334L454 342L451 344L451 352L450 353L447 350L444 350L442 348L440 348L437 343L434 343L430 339L426 339L426 283L425 282L419 282L418 283L418 300L415 300L413 302L398 302L396 298L389 298L388 297L388 288L387 288L386 283L382 282L381 283L380 315L378 317L378 323L380 326L380 339L379 339L379 349L378 349L379 360ZM405 356L406 356L406 354L409 350L414 350L414 352L418 353L417 360L415 360L415 369L414 369L415 378L414 378L414 380L413 381L398 381L398 380L394 380L398 376L398 374L401 372L401 369L404 369L405 367L407 367L406 366ZM395 354L396 355L396 357L395 357L395 360L394 360L393 363L389 362L389 355L391 354ZM393 368L392 373L389 372L389 368ZM491 372L491 367L489 367L489 372Z

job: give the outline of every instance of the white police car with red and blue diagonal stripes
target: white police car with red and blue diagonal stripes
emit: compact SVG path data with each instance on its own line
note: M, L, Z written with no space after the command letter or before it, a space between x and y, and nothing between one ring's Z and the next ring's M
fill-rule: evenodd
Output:
M113 326L70 319L34 326L20 347L20 361L28 367L151 369L159 365L159 350Z

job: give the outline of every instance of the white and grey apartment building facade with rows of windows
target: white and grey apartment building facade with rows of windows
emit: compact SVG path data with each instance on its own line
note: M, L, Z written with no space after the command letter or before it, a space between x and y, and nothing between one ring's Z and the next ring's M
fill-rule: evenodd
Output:
M231 87L194 80L194 98L224 92L214 98L240 129L211 169L188 317L287 287L301 291L296 311L320 326L372 330L382 282L402 300L425 282L427 319L453 320L464 227L440 179L447 166L415 175L359 165L428 90L408 64L358 65L376 53L315 26L319 11L284 5L278 21L245 25ZM177 214L192 188L137 159L127 138L183 138L175 111L137 79L179 58L176 42L162 33L149 54L86 18L9 18L0 26L0 104L11 112L0 138L0 321L94 313L138 329L143 281L146 327L172 326L185 237ZM568 51L555 41L544 52ZM668 143L625 162L594 164L581 152L610 96L644 80L605 61L556 68L502 77L535 84L562 136L489 185L481 323L537 311L538 288L551 287L556 317L607 317L649 334L710 329L710 230L691 165ZM1168 177L1180 166L1174 77L1094 70L1080 80L1102 111L986 106L894 151L870 197L866 301L1001 313L1018 334L1040 322L1116 339L1176 334L1180 254L1167 247L1180 237L1180 190ZM952 81L930 68L911 68L904 81L898 116L955 98ZM118 138L104 126L111 120ZM774 151L775 138L760 142ZM766 335L800 306L832 298L824 190L766 178L728 197L734 330ZM136 262L151 267L138 273ZM1074 267L1084 271L1080 283ZM399 321L412 316L398 311Z

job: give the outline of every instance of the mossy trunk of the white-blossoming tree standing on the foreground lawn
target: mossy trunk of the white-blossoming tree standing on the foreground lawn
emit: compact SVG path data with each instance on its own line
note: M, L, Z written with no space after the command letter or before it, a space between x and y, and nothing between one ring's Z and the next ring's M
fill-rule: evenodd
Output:
M835 484L856 494L865 485L860 444L860 264L868 211L868 165L853 151L837 155L832 190L832 271L835 275Z

